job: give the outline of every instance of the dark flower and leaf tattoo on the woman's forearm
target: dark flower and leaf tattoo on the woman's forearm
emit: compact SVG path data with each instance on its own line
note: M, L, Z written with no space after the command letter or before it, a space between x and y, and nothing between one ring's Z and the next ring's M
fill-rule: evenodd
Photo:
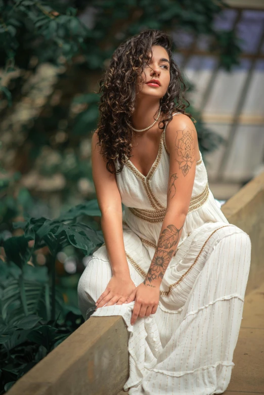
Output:
M158 245L156 247L153 260L144 280L145 285L153 286L151 285L153 280L157 280L159 278L162 280L175 250L172 247L178 244L179 234L182 228L183 226L178 229L171 224L168 225L166 229L163 229L161 235L159 236Z

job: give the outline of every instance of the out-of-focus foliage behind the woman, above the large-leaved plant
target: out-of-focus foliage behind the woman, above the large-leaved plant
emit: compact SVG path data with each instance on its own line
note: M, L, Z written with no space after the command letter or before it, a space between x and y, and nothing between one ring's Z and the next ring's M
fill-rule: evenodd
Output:
M221 0L163 0L155 5L150 0L0 0L3 167L21 174L19 184L47 202L51 216L84 198L95 199L95 92L115 48L146 28L178 29L197 39L207 36L209 51L218 54L220 67L230 70L239 62L239 40L233 31L213 25L224 7ZM176 44L173 51L179 51ZM195 89L189 85L190 91ZM223 138L206 129L195 108L190 111L202 154L215 150Z

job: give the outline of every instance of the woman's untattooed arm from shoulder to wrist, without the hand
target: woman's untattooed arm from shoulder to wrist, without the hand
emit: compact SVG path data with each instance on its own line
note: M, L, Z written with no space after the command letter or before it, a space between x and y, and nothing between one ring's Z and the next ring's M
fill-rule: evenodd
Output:
M92 137L92 174L102 213L101 225L106 250L113 275L130 278L123 240L121 196L116 175L107 170L97 142L98 136L95 131Z

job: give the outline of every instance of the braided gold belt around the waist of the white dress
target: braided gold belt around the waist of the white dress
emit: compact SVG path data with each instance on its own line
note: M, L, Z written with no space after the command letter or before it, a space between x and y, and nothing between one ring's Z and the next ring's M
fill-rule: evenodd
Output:
M209 196L209 185L207 182L204 190L198 195L195 195L191 198L188 214L202 207L202 205L207 201L208 196ZM163 222L167 211L166 207L158 210L136 209L134 207L128 207L128 209L136 217L152 223Z

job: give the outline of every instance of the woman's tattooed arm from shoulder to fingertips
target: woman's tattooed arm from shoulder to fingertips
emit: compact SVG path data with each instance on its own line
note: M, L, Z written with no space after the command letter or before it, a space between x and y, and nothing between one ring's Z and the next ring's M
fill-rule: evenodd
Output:
M174 117L166 127L166 141L170 155L167 210L147 276L127 299L130 303L136 297L131 325L138 316L156 313L160 283L177 249L192 196L198 138L191 119L183 114Z

